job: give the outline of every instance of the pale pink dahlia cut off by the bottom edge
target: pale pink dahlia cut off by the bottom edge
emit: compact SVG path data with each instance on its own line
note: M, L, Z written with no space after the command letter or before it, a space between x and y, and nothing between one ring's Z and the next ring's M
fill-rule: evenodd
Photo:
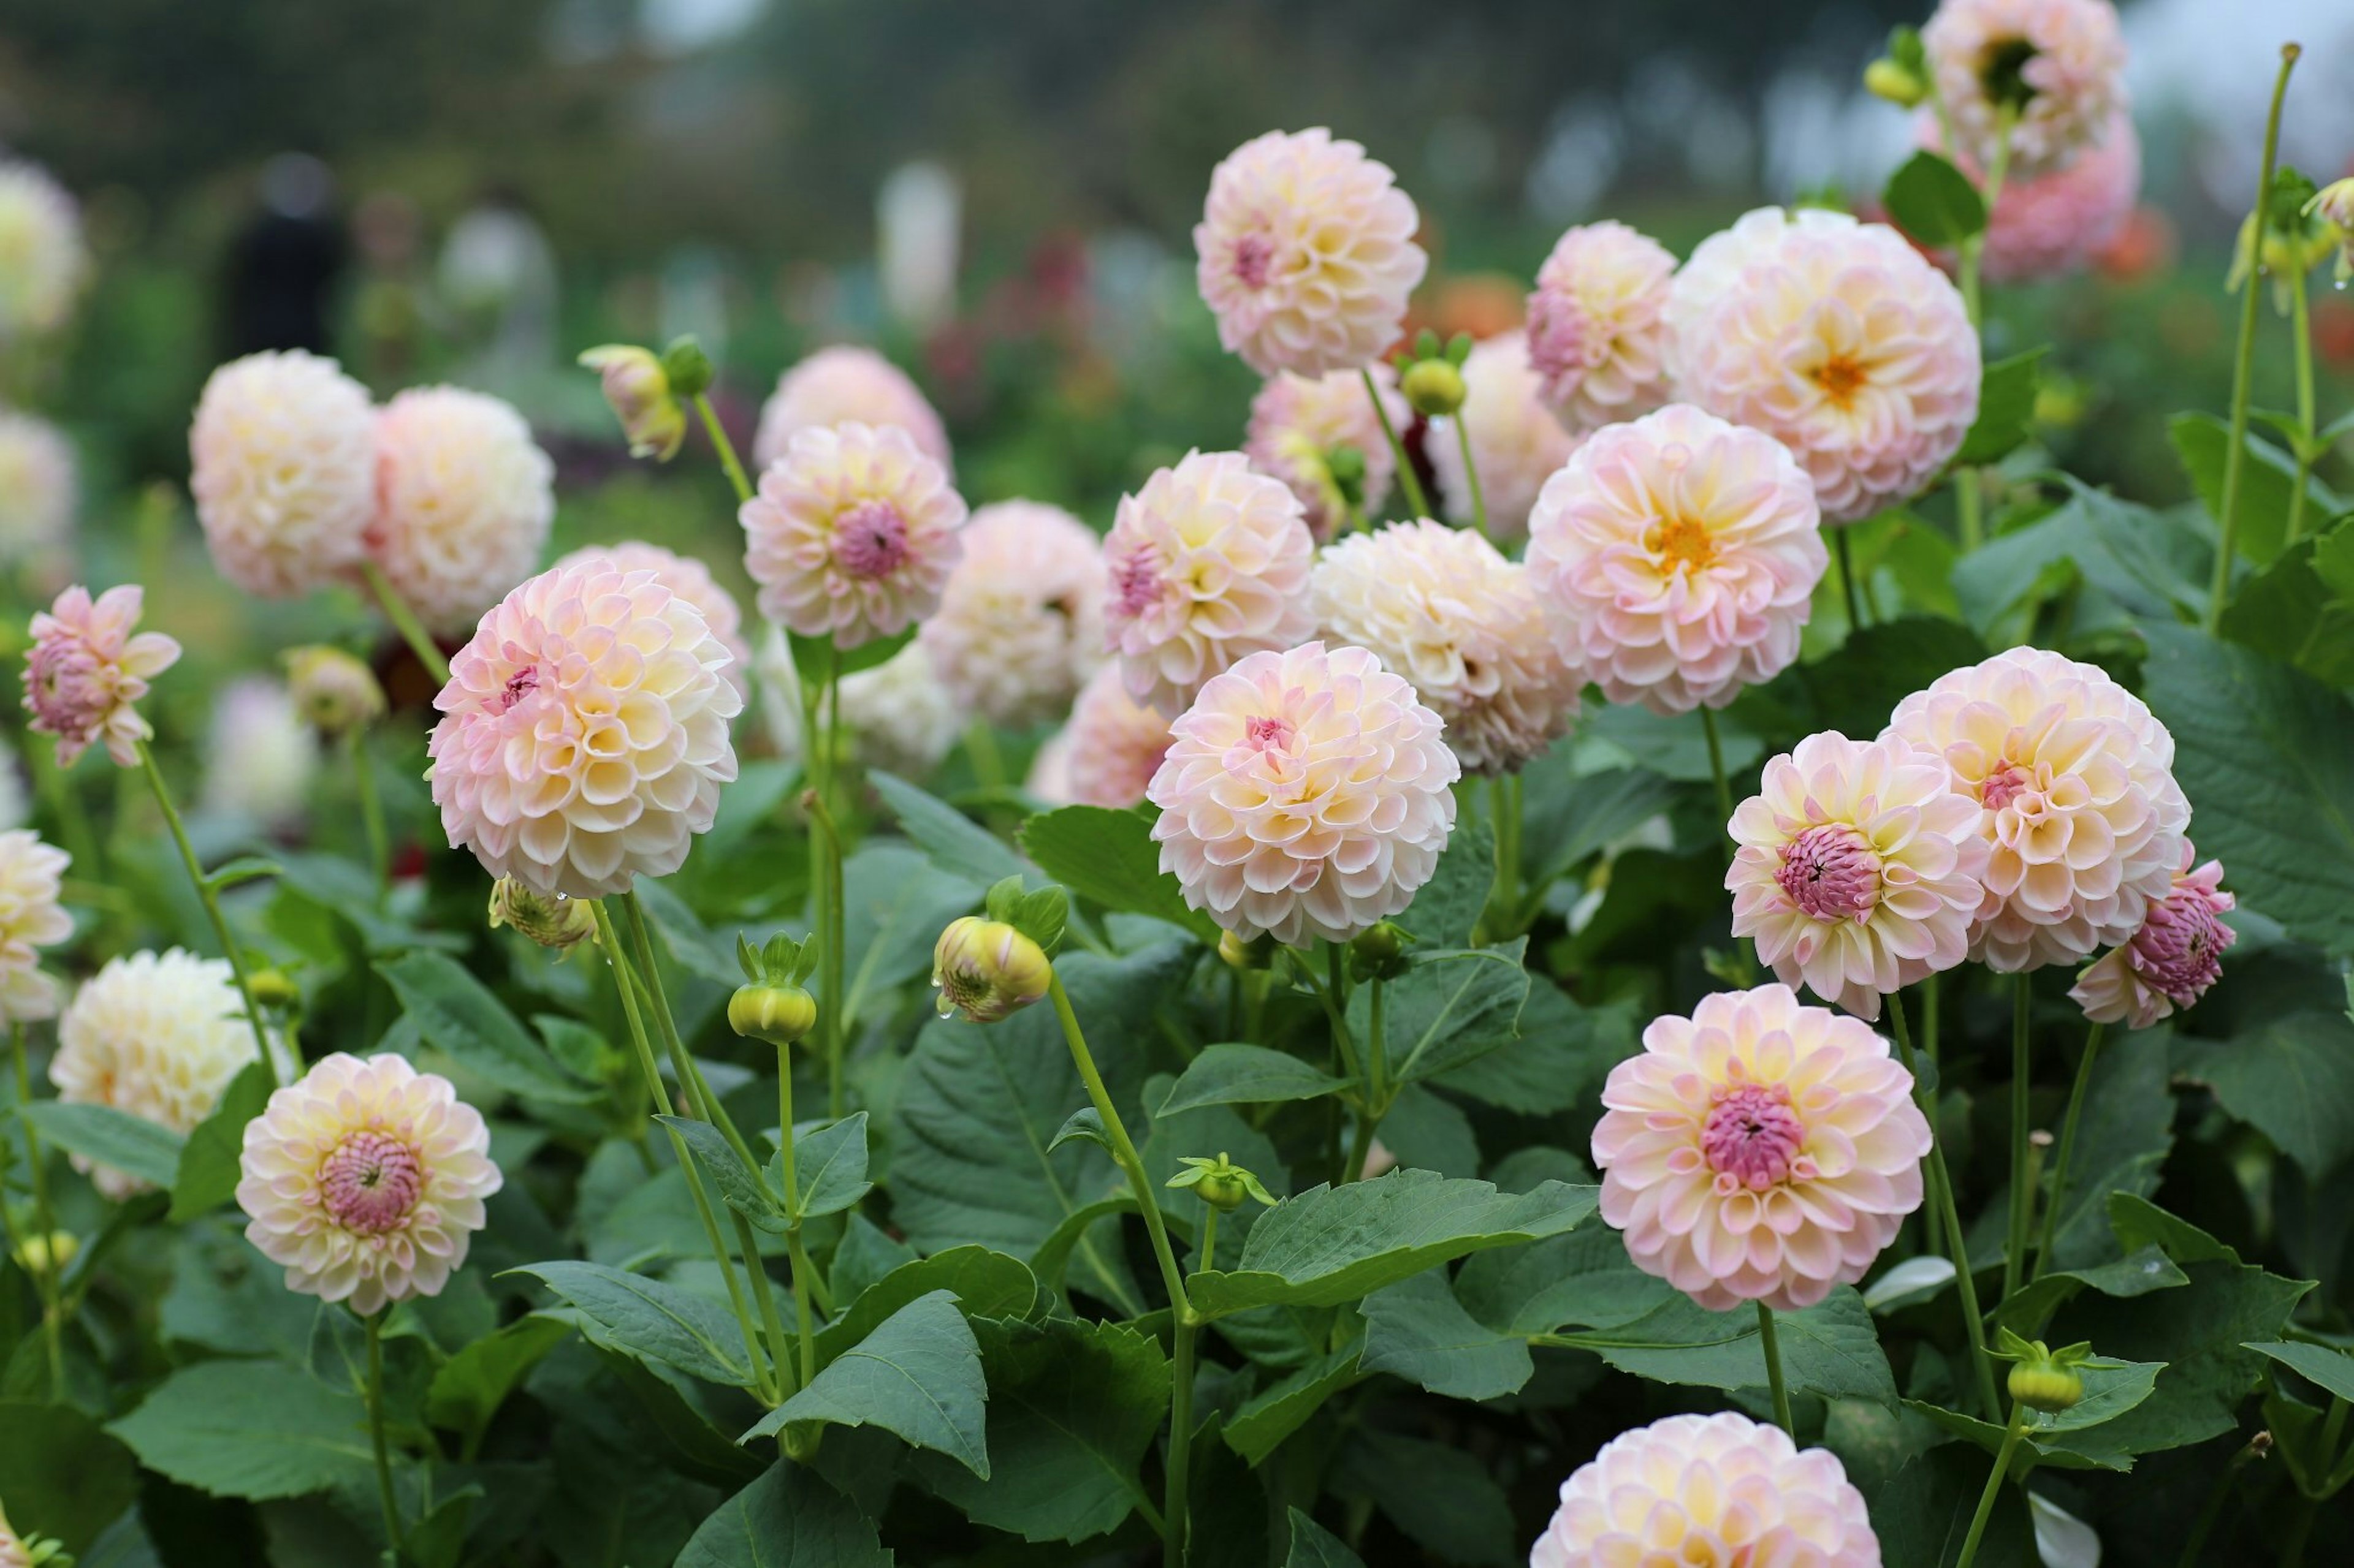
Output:
M1829 1448L1735 1410L1624 1431L1561 1483L1530 1568L1881 1568L1864 1495Z

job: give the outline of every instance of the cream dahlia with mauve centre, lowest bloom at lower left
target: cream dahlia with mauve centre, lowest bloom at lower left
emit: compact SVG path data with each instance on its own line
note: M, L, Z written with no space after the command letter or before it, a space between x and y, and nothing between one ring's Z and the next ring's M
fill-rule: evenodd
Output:
M287 1290L351 1302L440 1295L501 1187L483 1114L400 1057L322 1057L245 1123L245 1238Z

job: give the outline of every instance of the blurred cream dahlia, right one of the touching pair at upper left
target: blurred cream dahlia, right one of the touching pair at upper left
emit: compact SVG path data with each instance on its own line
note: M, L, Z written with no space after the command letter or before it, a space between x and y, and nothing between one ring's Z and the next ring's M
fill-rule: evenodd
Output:
M508 403L414 386L377 414L367 553L431 631L457 636L532 574L556 464Z

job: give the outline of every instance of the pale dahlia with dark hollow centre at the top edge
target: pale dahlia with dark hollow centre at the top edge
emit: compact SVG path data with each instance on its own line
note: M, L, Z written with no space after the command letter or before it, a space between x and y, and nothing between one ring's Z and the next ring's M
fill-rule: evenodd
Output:
M1921 28L1961 148L1989 167L2010 125L2010 172L2050 174L2126 106L2126 35L2109 0L1942 0Z

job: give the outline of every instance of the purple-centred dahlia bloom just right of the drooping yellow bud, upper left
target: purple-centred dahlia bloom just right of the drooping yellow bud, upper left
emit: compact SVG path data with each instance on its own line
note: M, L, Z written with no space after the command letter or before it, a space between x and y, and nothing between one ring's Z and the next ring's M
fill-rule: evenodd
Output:
M852 421L796 433L737 516L760 614L847 650L939 610L965 499L906 431Z

